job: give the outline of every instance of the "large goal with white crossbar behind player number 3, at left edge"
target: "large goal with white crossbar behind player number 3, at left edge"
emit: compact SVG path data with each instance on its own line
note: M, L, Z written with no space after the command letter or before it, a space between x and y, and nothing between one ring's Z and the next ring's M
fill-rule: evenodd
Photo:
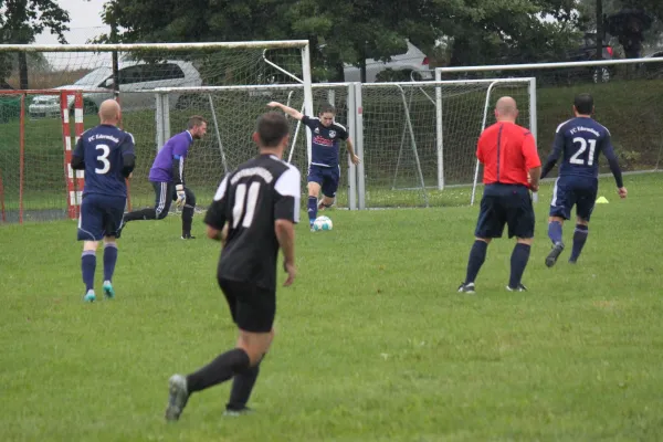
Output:
M143 206L154 203L147 175L155 151L165 141L165 131L157 131L155 90L271 84L298 85L301 105L313 112L308 41L0 45L0 139L6 140L0 149L0 202L4 219L71 215L63 139L73 145L75 130L65 133L63 108L73 122L75 92L82 94L81 126L85 129L98 124L96 113L104 99L115 98L122 104L123 128L136 139L130 201ZM71 92L64 102L63 90ZM169 98L175 134L186 129L191 101L197 98L189 94ZM208 120L214 119L210 107L200 113ZM244 115L250 119L256 116ZM204 148L197 154L207 155ZM222 171L219 169L214 178ZM203 202L206 197L201 197ZM20 206L22 215L18 217Z

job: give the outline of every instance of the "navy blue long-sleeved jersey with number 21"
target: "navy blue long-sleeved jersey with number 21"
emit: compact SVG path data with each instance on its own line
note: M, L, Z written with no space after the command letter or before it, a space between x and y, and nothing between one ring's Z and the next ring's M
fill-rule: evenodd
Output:
M589 117L571 118L557 127L552 152L541 171L544 178L562 157L560 177L590 177L599 175L599 154L603 152L618 187L622 187L621 170L610 141L610 131Z

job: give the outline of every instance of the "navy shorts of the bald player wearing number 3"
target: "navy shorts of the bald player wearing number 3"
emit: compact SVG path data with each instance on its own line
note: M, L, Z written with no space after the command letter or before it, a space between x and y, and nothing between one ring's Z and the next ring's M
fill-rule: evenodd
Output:
M126 202L125 197L84 194L78 217L78 241L101 241L104 236L116 236Z

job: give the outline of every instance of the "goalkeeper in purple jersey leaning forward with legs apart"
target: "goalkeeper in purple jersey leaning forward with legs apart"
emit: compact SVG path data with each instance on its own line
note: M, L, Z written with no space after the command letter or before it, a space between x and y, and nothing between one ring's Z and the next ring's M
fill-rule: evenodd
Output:
M155 208L125 213L123 229L129 221L162 220L168 215L170 202L176 201L176 204L182 208L182 240L196 239L191 235L196 196L185 183L185 159L193 140L202 139L204 134L207 134L207 122L203 117L193 115L189 118L187 130L166 141L149 169L149 180L156 194Z

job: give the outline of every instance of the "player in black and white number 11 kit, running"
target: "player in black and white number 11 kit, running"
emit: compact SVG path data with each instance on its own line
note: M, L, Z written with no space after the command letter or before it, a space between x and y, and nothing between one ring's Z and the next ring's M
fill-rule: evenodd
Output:
M299 220L301 175L281 157L290 127L282 114L270 112L257 120L253 140L260 155L229 173L210 206L204 222L208 236L224 242L217 271L230 314L239 328L236 347L188 376L169 380L168 421L178 420L189 397L233 379L228 414L242 414L267 352L276 313L278 249L295 280L295 230Z

